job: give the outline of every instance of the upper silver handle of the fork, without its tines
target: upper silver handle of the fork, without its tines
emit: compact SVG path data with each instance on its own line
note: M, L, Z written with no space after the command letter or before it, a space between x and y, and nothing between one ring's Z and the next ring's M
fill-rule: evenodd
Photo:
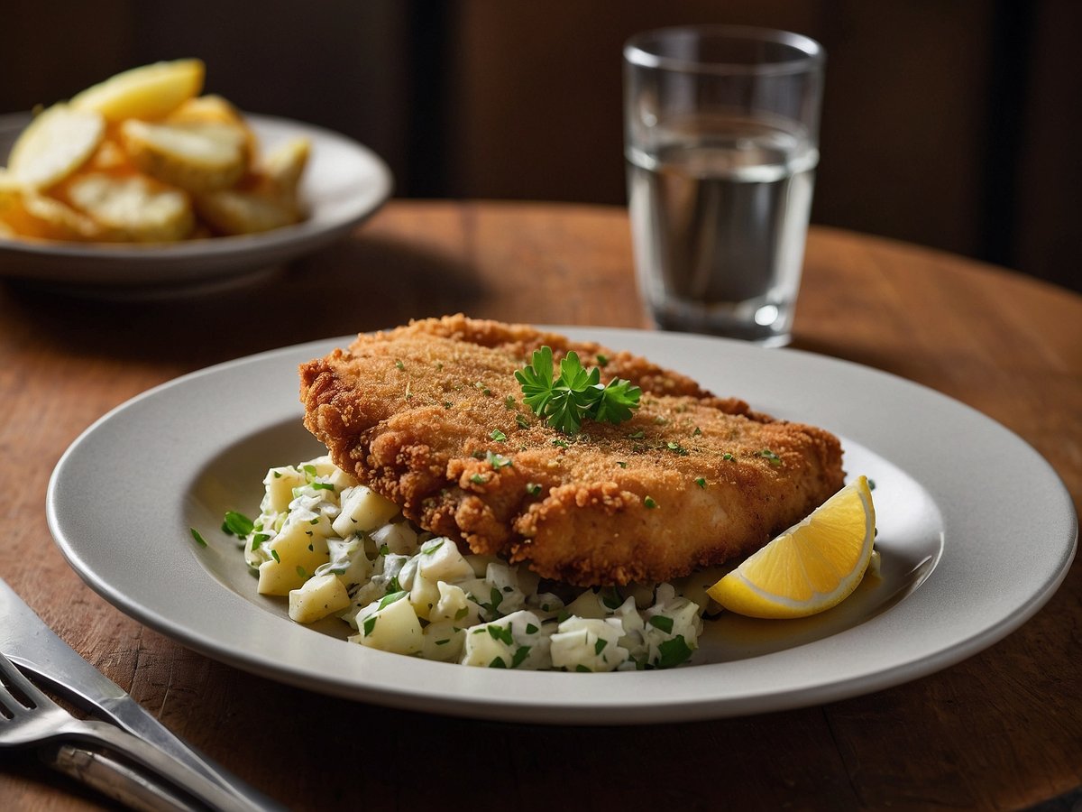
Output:
M90 742L104 745L114 752L126 756L141 764L194 799L221 812L261 812L248 799L238 796L214 783L187 764L162 752L148 742L131 733L96 720L80 721L69 729L57 732L55 738L66 742ZM183 807L182 807L183 809Z

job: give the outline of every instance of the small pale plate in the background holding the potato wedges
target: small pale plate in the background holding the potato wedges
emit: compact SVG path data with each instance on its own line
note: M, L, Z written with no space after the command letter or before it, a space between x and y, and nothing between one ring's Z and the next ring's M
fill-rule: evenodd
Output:
M347 234L391 195L386 165L367 147L312 125L246 115L266 148L304 135L312 154L301 179L308 217L264 234L159 245L0 239L0 276L104 294L206 286L281 265ZM0 116L0 156L30 120Z

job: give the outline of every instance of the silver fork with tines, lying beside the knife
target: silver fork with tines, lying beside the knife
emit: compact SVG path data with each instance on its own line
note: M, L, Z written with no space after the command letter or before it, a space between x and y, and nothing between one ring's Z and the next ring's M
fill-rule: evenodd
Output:
M76 719L0 654L0 748L83 742L126 756L190 797L223 812L258 809L143 739L96 720Z

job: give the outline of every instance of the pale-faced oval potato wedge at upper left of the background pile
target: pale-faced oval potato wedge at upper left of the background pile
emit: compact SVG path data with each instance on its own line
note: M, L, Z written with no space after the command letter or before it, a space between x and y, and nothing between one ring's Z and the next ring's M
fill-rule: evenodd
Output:
M19 133L8 170L24 186L48 188L79 169L104 136L101 114L54 104Z

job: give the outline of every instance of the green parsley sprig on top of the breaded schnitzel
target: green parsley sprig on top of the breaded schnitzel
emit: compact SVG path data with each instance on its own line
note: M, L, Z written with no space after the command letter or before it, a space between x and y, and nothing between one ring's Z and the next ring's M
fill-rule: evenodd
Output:
M601 376L597 367L588 371L572 351L559 362L559 377L554 380L552 348L547 345L535 350L530 363L515 372L526 405L565 434L578 434L586 419L608 423L630 420L631 410L638 408L638 387L622 378L603 385Z

